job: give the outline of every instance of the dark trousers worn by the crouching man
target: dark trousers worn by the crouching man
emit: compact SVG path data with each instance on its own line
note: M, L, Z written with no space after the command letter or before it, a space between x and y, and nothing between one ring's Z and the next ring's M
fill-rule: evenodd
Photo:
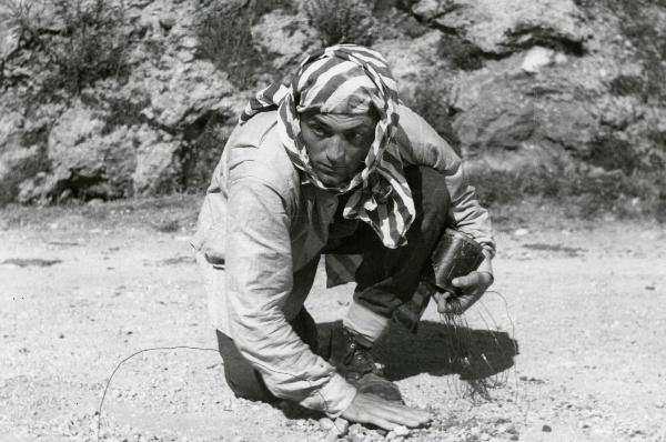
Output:
M354 299L387 318L411 300L421 279L432 278L430 257L450 220L450 197L442 174L431 168L411 167L405 169L405 178L416 207L416 219L407 232L406 245L387 249L371 227L359 222L351 235L332 239L323 250L323 253L363 254L355 274ZM342 219L344 201L339 205L334 224L350 222ZM316 325L307 311L303 308L290 323L303 342L320 354ZM226 383L236 396L266 402L275 400L261 374L241 355L233 340L220 331L218 346L224 361Z

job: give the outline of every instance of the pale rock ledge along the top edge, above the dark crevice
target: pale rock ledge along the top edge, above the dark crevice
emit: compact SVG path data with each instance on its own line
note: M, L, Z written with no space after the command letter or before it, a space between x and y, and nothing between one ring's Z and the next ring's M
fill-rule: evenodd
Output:
M545 41L581 47L591 34L573 0L422 0L412 11L465 36L486 53L507 53Z

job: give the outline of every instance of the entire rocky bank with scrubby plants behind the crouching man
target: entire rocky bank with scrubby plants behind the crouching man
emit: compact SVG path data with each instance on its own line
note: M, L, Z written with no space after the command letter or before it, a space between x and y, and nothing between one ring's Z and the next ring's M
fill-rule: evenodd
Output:
M352 42L386 56L484 202L533 194L581 217L665 219L666 3L553 1L13 1L0 200L200 192L254 89L305 51ZM539 68L522 69L539 48ZM53 128L75 132L72 107L99 128L54 143ZM67 163L72 152L90 161Z

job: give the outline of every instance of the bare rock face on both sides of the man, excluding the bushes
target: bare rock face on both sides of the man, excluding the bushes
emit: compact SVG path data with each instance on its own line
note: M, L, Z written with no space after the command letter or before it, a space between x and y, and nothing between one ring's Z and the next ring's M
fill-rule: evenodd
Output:
M248 90L200 48L198 18L226 3L250 13L249 43L263 54ZM450 132L473 173L579 167L630 174L666 164L666 92L649 83L662 68L643 57L649 44L623 34L627 18L618 11L584 0L375 3L373 46L402 97ZM60 38L49 4L36 32ZM201 189L246 99L321 47L304 12L280 1L124 4L127 72L46 96L43 54L0 8L0 202ZM666 8L640 13L650 41L666 36Z

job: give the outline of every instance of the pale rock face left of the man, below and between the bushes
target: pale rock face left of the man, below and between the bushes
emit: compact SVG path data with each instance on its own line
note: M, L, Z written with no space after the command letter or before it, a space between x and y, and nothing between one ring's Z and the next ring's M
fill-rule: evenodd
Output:
M194 8L178 0L129 2L125 17L143 38L130 48L127 79L101 80L80 97L60 97L56 106L36 109L30 94L21 96L34 87L24 68L30 63L17 57L20 50L10 53L3 46L2 60L10 64L3 73L11 77L0 99L0 202L182 190L183 159L206 121L225 121L243 102L224 72L196 59ZM27 76L13 77L20 69ZM36 144L26 142L37 134Z

